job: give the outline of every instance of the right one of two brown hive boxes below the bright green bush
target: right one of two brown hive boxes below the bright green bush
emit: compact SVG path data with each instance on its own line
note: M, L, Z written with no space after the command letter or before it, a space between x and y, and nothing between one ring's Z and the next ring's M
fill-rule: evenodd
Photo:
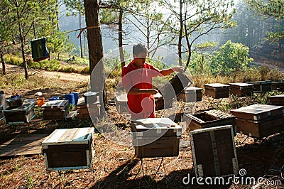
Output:
M251 96L253 93L253 85L245 82L229 83L230 94L238 97Z

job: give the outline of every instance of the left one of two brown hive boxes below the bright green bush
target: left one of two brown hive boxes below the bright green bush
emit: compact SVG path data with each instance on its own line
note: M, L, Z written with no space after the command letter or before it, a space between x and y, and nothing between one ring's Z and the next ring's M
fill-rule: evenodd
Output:
M229 85L222 83L204 84L205 95L214 99L229 97Z

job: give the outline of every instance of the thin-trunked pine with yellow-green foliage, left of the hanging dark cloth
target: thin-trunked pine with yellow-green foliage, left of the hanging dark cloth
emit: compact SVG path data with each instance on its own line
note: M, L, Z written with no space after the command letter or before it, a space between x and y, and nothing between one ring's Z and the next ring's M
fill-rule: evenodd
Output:
M26 63L26 43L36 37L45 36L53 31L53 23L56 23L55 15L58 11L55 0L23 0L6 1L11 18L10 29L13 33L13 41L21 45L23 68L28 79ZM38 34L38 35L37 35Z

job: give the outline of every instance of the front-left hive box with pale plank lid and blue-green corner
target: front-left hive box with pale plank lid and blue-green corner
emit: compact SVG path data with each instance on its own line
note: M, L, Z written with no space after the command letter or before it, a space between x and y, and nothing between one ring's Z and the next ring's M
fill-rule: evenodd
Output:
M94 128L56 129L43 142L48 171L90 168L94 156Z

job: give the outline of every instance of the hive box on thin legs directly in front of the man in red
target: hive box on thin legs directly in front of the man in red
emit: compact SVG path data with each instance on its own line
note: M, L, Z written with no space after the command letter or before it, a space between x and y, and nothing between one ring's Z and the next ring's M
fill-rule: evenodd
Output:
M168 118L131 122L133 146L138 158L178 156L182 128Z

